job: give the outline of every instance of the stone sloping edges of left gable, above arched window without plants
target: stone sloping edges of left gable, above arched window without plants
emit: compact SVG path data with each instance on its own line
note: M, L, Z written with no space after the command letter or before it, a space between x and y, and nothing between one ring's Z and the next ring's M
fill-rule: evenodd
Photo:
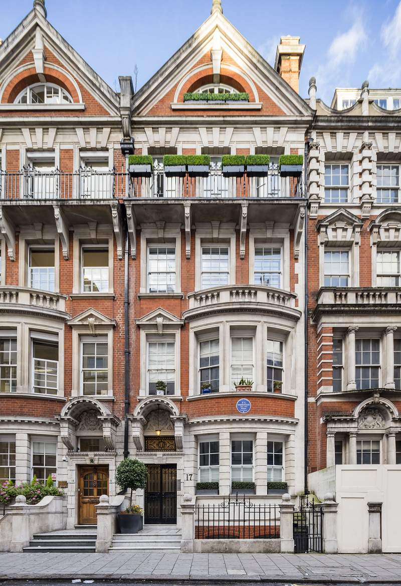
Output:
M34 63L32 53L40 30L43 45L52 55L52 61L63 64L67 73L72 75L89 94L103 106L110 115L119 115L119 98L106 81L91 69L89 64L73 49L59 32L37 10L32 10L0 45L0 79L4 80L0 92L12 79L16 65ZM53 56L55 59L53 59Z

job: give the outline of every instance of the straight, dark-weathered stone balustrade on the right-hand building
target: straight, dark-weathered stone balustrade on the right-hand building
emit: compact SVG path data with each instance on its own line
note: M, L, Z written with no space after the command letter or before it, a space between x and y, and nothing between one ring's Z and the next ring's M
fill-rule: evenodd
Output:
M321 287L313 318L324 313L389 313L401 303L401 287Z

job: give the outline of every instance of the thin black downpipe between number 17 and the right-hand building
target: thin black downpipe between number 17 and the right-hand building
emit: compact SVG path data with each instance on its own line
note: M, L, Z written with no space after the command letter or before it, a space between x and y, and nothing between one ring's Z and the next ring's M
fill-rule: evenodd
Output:
M305 249L304 249L304 346L305 346L305 403L304 403L304 494L308 491L308 165L309 165L309 141L305 142L305 166L304 166L304 193L305 193Z

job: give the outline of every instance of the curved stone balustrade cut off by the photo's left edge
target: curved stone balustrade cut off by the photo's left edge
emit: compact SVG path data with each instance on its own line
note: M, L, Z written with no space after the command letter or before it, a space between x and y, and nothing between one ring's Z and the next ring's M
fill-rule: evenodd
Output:
M70 319L66 313L67 295L31 289L30 287L0 287L2 314L28 313L56 319Z

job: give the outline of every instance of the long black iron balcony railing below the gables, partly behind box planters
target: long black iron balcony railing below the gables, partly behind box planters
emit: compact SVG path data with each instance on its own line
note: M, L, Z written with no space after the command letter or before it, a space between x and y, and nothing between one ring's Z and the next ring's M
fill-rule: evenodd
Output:
M72 173L55 169L39 171L25 167L9 173L0 170L0 199L57 200L113 199L143 197L157 199L256 199L303 197L301 178L281 177L278 169L269 169L265 177L226 177L221 169L210 169L206 177L165 175L155 169L150 177L130 177L127 172L96 171L81 168Z

